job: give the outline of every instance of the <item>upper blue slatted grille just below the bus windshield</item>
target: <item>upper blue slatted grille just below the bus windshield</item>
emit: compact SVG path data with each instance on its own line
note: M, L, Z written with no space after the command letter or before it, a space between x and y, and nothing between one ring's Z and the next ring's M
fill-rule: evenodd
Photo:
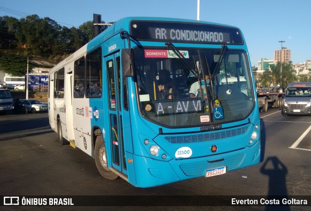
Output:
M247 131L248 126L243 126L235 129L220 130L215 132L192 134L187 136L166 136L164 139L170 143L196 143L203 141L214 141L219 139L239 136Z

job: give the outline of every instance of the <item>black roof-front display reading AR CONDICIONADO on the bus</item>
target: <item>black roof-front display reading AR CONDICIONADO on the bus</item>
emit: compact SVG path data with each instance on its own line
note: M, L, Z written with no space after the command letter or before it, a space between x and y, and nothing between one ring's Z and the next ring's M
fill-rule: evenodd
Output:
M243 44L239 29L197 23L132 21L131 35L138 40L201 44Z

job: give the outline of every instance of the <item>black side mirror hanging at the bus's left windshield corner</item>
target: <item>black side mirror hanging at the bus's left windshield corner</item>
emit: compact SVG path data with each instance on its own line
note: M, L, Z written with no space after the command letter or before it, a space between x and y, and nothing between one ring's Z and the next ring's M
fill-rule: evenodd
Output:
M121 64L123 76L132 77L135 75L134 53L132 49L126 48L121 50Z

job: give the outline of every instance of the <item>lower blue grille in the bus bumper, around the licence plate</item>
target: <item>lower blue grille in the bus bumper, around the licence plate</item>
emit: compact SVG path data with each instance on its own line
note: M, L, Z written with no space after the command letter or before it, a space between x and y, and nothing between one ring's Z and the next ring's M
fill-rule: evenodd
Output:
M227 171L239 167L245 158L245 153L225 157L223 161L209 163L208 161L201 161L195 163L181 164L179 168L186 176L205 176L207 169L227 166Z

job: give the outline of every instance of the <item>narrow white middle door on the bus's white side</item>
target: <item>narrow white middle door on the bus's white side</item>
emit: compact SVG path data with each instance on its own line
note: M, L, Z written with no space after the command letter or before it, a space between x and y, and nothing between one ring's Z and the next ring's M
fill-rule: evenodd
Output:
M67 131L68 131L68 141L74 140L74 133L73 133L73 109L72 109L72 93L73 93L73 86L72 86L72 71L67 73L66 75L66 102L62 109L63 112L66 113L66 120L67 120Z

